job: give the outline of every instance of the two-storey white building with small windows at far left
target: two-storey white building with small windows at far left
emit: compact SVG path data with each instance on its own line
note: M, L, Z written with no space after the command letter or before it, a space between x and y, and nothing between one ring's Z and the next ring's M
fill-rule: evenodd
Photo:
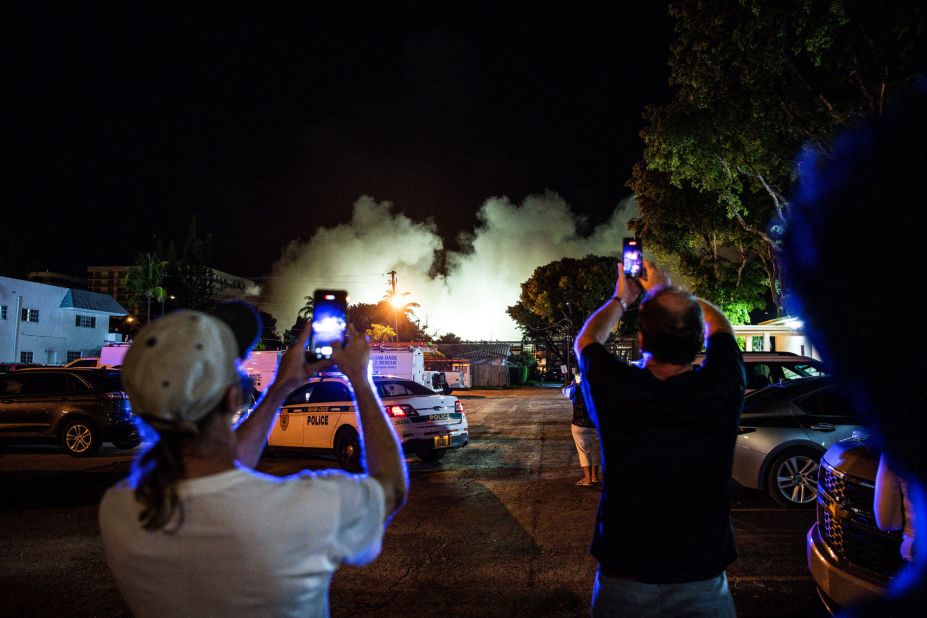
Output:
M0 362L61 365L99 356L110 316L126 313L106 294L0 277Z

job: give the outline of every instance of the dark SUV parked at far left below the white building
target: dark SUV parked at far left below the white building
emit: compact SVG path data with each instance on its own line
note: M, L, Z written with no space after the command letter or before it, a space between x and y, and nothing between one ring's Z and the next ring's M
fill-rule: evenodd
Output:
M0 441L57 442L86 457L141 439L118 371L49 367L0 375Z

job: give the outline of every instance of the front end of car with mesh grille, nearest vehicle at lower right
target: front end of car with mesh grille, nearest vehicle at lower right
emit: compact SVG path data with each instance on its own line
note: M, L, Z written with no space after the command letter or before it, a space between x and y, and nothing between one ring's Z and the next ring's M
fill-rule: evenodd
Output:
M879 530L873 513L879 452L859 434L821 459L817 521L807 537L808 569L821 600L836 612L881 596L901 569L901 532Z

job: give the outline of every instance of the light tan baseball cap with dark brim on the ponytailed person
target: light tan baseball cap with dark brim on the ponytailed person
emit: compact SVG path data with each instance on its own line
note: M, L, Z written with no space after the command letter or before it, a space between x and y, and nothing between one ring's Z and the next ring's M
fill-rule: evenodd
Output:
M212 412L239 380L260 317L244 302L220 304L212 314L181 310L138 332L122 364L122 384L136 414L190 424Z

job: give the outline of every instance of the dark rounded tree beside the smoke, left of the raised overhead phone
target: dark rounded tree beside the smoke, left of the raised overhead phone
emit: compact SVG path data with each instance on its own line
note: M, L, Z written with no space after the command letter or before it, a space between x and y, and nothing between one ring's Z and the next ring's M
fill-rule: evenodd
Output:
M538 266L506 309L526 337L544 344L555 364L570 364L570 346L589 315L615 293L617 262L587 255Z

